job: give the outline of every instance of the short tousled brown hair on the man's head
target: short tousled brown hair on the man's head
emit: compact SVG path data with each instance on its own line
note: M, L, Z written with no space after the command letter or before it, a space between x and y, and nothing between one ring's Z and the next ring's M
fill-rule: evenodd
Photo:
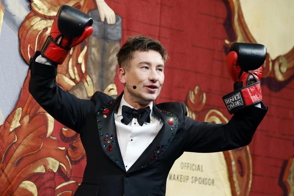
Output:
M149 50L159 52L164 63L166 62L168 53L158 40L142 35L128 37L126 43L123 44L116 55L119 67L124 67L128 70L129 62L133 58L135 51L145 52Z

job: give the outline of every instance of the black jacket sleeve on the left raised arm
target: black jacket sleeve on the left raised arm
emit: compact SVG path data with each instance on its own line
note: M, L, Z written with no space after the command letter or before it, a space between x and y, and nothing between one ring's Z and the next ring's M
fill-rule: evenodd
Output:
M56 82L57 66L36 62L38 55L39 52L30 62L29 92L54 119L79 133L95 102L78 99L60 88Z

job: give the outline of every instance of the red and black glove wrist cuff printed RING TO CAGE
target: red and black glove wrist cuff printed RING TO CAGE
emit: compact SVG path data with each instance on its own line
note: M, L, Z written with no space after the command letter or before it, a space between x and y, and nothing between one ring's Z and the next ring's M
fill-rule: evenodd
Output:
M237 89L223 96L222 99L230 114L233 114L244 107L262 102L260 81L241 89Z

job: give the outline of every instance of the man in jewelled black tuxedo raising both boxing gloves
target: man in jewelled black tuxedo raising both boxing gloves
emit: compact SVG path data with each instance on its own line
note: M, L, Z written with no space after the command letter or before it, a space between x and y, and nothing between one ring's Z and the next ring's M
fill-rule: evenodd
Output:
M157 40L144 36L129 38L117 54L124 85L117 99L95 92L91 100L80 100L59 88L57 64L91 35L91 20L62 6L51 36L30 62L30 93L56 120L79 133L85 148L87 165L75 195L165 195L168 172L184 151L218 152L250 143L267 111L258 89L262 71L241 70L236 52L230 53L228 66L241 90L225 99L235 112L227 124L188 118L182 103L154 104L164 83L167 53Z

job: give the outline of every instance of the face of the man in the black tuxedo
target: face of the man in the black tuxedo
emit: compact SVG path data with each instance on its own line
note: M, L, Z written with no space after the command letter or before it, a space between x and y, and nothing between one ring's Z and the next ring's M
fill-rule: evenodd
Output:
M126 70L125 95L129 95L135 102L146 104L154 101L160 93L164 82L164 61L159 52L149 50L134 52L130 60L129 70Z

